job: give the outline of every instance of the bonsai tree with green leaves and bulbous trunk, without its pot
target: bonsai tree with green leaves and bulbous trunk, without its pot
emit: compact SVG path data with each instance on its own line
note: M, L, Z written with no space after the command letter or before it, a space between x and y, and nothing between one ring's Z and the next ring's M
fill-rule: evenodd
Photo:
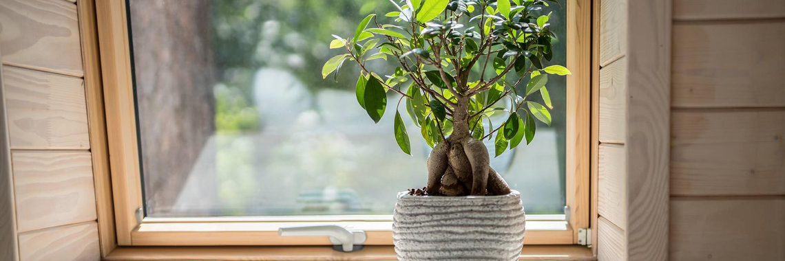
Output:
M556 35L549 29L550 13L542 14L542 7L556 1L390 2L396 9L385 16L395 18L397 24L380 24L371 14L349 38L333 35L330 48L346 53L327 60L323 78L337 75L346 60L356 62L360 67L357 102L375 122L385 113L386 92L400 95L395 138L401 150L411 154L397 110L406 100L406 111L433 147L424 194L509 194L507 183L489 165L481 140L495 139L498 156L524 139L531 143L535 119L550 125L548 74L570 74L563 66L546 66L553 57L551 41ZM371 52L375 49L378 52ZM394 59L400 67L390 74L369 70L367 63L377 59ZM529 99L538 94L544 105ZM509 108L499 103L506 99ZM491 114L509 116L494 128Z

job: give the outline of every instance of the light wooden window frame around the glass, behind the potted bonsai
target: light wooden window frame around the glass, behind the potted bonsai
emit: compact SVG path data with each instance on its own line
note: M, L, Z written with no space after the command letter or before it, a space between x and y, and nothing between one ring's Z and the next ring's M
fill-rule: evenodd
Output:
M528 216L526 245L576 245L578 230L590 226L591 4L592 0L567 1L567 67L572 71L566 91L569 212ZM94 15L108 143L101 157L109 159L111 172L112 201L103 208L114 208L117 245L331 245L326 237L276 233L281 226L316 223L351 225L366 230L365 245L392 245L391 218L384 216L144 217L126 1L96 1Z

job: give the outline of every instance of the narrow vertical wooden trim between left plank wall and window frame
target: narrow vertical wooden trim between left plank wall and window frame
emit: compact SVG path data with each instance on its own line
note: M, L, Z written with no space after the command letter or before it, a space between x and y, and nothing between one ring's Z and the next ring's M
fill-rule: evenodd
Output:
M105 257L117 246L117 242L115 240L115 208L111 198L109 147L104 115L104 89L101 85L95 0L79 0L76 6L79 8L79 29L82 31L85 91L90 152L93 156L93 179L96 188L98 233L101 256Z

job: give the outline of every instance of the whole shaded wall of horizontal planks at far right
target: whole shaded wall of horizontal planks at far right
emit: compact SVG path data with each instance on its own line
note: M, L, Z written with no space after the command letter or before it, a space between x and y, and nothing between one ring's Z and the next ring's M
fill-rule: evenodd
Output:
M785 1L674 1L670 259L785 260Z

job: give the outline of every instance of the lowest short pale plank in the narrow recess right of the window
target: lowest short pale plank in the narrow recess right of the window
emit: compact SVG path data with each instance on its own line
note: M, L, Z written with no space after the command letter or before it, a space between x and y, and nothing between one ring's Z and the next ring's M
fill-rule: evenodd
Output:
M597 260L626 260L624 230L600 216L597 220Z

